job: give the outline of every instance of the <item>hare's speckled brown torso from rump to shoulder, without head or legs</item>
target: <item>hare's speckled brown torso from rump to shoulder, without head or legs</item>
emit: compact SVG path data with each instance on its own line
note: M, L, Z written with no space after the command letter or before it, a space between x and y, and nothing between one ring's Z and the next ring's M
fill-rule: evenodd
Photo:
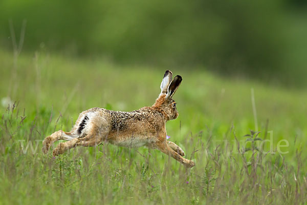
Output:
M79 137L94 134L105 135L105 139L110 140L135 138L135 141L143 141L146 138L151 141L151 138L157 137L157 131L163 127L163 122L160 113L147 107L132 112L92 108L80 113L74 132Z

